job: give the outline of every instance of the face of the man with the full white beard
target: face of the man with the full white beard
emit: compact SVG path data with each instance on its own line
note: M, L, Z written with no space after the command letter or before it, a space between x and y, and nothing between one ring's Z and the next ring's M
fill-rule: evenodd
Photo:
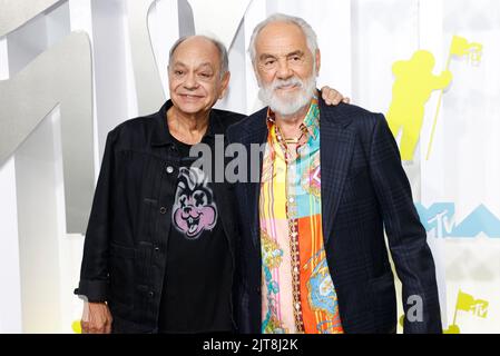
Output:
M312 99L320 51L312 53L302 29L287 22L264 27L255 43L261 99L277 113L293 115Z

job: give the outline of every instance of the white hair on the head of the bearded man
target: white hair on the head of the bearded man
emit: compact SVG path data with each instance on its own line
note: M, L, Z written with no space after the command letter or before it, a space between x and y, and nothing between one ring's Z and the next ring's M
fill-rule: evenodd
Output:
M269 16L267 19L265 19L264 21L262 21L261 23L258 23L255 27L254 32L252 33L248 52L252 58L252 62L254 65L255 65L255 57L257 56L257 49L255 48L257 37L267 24L274 23L274 22L293 23L293 24L297 26L298 28L301 28L302 32L305 36L305 39L307 42L307 48L310 49L311 53L313 56L316 53L317 36L316 36L316 32L314 32L311 24L308 24L304 19L297 18L297 17L293 17L293 16L288 16L288 14L284 14L284 13L274 13L274 14Z

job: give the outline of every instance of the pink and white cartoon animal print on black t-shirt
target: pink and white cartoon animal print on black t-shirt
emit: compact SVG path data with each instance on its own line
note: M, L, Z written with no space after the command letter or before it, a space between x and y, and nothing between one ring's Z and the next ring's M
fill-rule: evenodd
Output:
M188 239L197 239L217 222L217 207L207 182L204 171L198 168L179 170L171 219L176 229Z

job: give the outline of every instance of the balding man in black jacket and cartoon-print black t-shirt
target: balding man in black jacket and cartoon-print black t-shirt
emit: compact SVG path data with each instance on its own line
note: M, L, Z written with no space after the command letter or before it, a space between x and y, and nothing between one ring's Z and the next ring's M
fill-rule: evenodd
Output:
M86 234L84 333L232 332L235 197L192 167L193 146L243 115L213 106L229 82L227 51L202 37L170 50L170 100L109 132ZM329 101L342 97L325 90Z

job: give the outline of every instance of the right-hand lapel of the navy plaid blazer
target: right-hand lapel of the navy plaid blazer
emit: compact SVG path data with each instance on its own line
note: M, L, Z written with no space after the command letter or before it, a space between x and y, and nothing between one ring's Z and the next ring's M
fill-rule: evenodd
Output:
M336 214L347 177L354 148L354 132L347 128L351 121L335 122L334 108L321 102L321 196L322 224L325 247L333 233Z

